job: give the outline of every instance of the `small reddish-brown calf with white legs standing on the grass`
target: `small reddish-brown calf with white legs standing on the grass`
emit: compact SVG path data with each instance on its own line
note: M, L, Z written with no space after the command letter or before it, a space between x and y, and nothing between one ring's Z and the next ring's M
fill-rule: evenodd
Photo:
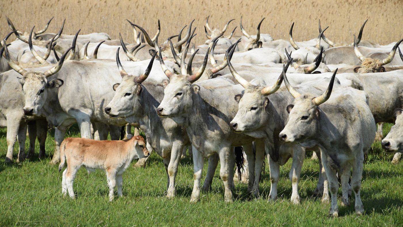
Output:
M114 198L114 188L117 186L118 197L122 196L123 172L130 166L133 158L148 157L144 138L137 135L128 140L99 141L85 138L66 138L60 148L59 172L67 162L63 171L62 193L75 198L73 181L77 171L84 166L88 174L96 169L106 171L109 186L109 201Z

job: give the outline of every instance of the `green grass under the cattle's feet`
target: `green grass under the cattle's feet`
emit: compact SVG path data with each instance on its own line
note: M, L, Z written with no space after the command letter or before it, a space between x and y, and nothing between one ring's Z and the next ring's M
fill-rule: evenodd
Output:
M384 127L385 135L390 127ZM79 136L77 127L68 134ZM17 148L15 146L15 156ZM53 150L51 130L46 141L46 154L51 156ZM246 194L247 185L235 183L235 202L225 203L218 167L212 191L202 192L200 202L190 204L193 187L190 158L181 160L176 198L168 200L164 197L166 173L162 159L153 153L145 169L127 169L123 175L124 196L108 202L108 187L103 171L88 175L85 169L81 169L74 182L77 199L72 200L62 197L62 175L56 165L49 164L50 158L33 158L20 164L4 165L5 156L6 129L0 129L0 226L403 225L403 164L391 165L392 155L385 154L379 143L373 145L364 164L361 198L365 215L355 215L353 196L350 199L352 205L339 207L341 217L335 219L328 218L330 204L322 204L320 200L312 198L317 183L318 163L311 161L309 156L305 158L299 183L299 205L289 202L291 183L288 172L291 161L280 168L280 198L274 203L267 202L270 179L266 165L260 183L261 199L250 199ZM204 176L207 171L205 163Z

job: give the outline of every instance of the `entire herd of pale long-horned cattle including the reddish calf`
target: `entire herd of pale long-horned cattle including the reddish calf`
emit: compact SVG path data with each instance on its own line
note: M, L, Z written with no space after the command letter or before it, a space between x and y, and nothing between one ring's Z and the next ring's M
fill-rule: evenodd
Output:
M179 161L189 147L194 170L191 202L200 199L205 158L203 190L209 190L220 161L226 202L233 201L235 165L246 176L248 192L259 197L267 156L268 200L276 200L280 166L292 158L291 202L298 204L299 177L309 150L319 160L314 194L331 202L330 215L338 216L338 180L341 204L348 206L354 192L355 212L361 215L364 156L374 140L382 140L382 123L396 122L381 143L386 152L396 152L393 163L401 158L403 39L387 45L362 40L367 21L351 43L341 44L325 36L330 28L322 29L320 21L318 37L297 42L292 32L298 24L292 23L289 40L273 40L260 31L264 19L256 35L247 33L252 29L242 26L241 17L243 35L233 35L235 27L224 36L234 19L221 30L211 28L207 17L207 40L196 46L194 20L166 39L159 36L159 21L151 37L127 20L134 31L130 43L120 34L119 40L106 33L80 35L80 30L65 35L64 21L58 33L45 33L52 19L42 30L24 32L6 18L11 32L0 46L0 126L7 127L6 162L12 162L17 140L17 162L34 154L36 138L39 158L44 158L46 132L54 127L51 163L62 160L60 170L66 157L62 188L73 198L72 183L81 166L106 169L110 199L115 185L120 196L121 173L133 158L145 163L147 150L162 157L166 196L172 198ZM400 57L395 57L397 51ZM119 140L125 125L127 135L131 126L139 128L146 135L146 148L137 135L125 144L71 138L63 142L75 123L82 138L96 140L106 140L108 133Z

